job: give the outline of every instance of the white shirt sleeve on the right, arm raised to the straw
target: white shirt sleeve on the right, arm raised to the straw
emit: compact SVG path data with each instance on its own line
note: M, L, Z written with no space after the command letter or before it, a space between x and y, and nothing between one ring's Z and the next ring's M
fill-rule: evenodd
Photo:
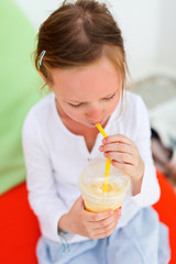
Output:
M139 97L135 130L135 145L144 162L144 175L141 193L132 196L130 199L139 207L152 206L160 199L160 185L156 178L156 169L152 158L151 151L151 125L146 107L141 97Z

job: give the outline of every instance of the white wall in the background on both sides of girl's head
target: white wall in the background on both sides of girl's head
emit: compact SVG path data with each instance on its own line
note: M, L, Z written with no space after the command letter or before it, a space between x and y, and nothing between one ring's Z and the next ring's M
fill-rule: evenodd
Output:
M14 0L34 28L62 0ZM176 69L175 0L105 0L122 29L129 68L134 80Z

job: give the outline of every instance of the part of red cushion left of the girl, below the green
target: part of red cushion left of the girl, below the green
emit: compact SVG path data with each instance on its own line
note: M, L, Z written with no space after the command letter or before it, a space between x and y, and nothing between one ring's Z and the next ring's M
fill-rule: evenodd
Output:
M0 208L0 263L36 264L40 229L28 202L25 184L2 195Z

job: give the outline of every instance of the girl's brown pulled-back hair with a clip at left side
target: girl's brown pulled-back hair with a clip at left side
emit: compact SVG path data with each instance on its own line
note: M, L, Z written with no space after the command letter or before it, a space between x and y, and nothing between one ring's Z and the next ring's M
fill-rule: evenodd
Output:
M46 54L40 65L43 51ZM105 3L95 0L64 1L40 28L35 67L51 82L51 68L85 66L102 55L118 68L124 87L128 66L123 38Z

